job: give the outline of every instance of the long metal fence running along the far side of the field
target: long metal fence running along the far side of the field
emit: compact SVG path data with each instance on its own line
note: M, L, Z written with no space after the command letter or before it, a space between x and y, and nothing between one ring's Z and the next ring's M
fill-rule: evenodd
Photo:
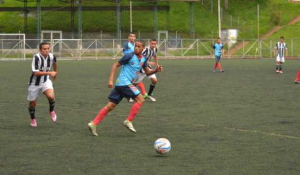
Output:
M148 43L150 39L142 39ZM60 60L118 59L123 53L126 39L53 39L43 40L51 44ZM38 52L37 39L0 39L0 60L31 60ZM159 58L163 59L205 59L210 58L215 39L159 39ZM273 48L277 39L225 40L224 58L274 58ZM285 39L289 56L300 56L300 38Z

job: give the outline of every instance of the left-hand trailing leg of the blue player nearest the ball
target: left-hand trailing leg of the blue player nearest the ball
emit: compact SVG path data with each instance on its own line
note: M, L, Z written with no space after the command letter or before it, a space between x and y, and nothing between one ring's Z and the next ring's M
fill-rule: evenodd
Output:
M111 91L111 93L108 96L109 102L103 107L96 117L90 121L88 124L88 127L92 133L93 136L98 136L96 132L96 128L99 125L99 123L104 119L104 117L107 115L108 112L115 109L115 107L120 103L120 101L123 99L123 95L121 95L116 88Z

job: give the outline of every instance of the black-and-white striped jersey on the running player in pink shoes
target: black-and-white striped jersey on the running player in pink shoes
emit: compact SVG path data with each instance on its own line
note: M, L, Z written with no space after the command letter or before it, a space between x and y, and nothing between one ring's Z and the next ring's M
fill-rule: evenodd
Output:
M49 79L49 75L35 76L34 72L49 72L53 63L56 63L56 57L49 53L47 58L43 57L40 53L33 56L31 63L31 76L29 85L39 86L41 82L46 82Z

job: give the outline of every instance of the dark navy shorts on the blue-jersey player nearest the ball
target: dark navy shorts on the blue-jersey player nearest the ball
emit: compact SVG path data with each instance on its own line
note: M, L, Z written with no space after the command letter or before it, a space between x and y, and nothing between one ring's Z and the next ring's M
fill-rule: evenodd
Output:
M115 86L115 89L110 92L108 98L110 102L119 104L124 97L135 99L139 94L139 90L132 84L128 86Z

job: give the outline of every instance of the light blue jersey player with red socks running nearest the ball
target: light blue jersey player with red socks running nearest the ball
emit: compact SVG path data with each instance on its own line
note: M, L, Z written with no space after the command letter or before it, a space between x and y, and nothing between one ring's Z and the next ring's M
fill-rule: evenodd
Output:
M98 136L96 127L99 125L100 121L103 120L107 113L112 111L124 97L133 98L136 101L132 106L127 119L123 122L123 125L127 129L132 132L136 132L132 125L132 121L134 120L140 108L143 106L145 99L140 94L138 89L136 89L136 87L132 84L132 82L137 78L137 75L140 73L142 67L147 75L152 75L163 70L162 66L156 66L155 69L150 69L148 67L147 59L142 55L144 48L145 45L142 41L136 41L134 52L125 54L123 58L111 66L108 81L109 88L113 87L113 80L117 67L122 65L122 69L119 78L116 81L115 88L108 96L109 102L99 111L94 120L90 121L88 124L93 136Z

